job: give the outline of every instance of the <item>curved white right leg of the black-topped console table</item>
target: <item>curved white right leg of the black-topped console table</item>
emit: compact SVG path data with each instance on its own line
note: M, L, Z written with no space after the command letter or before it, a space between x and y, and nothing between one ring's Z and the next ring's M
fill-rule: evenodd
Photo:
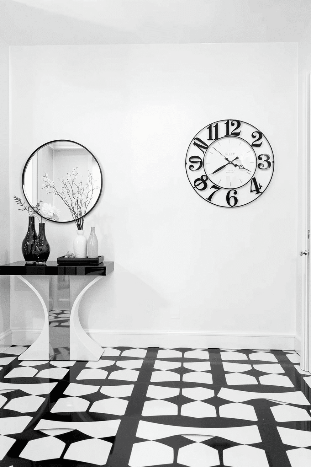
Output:
M99 360L104 352L104 349L87 335L79 320L79 305L83 295L102 277L96 276L95 279L88 283L72 305L69 326L70 360Z

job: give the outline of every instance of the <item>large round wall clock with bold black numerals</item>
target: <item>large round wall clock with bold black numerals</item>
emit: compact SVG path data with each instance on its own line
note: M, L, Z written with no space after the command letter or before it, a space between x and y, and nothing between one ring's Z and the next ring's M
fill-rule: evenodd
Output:
M242 120L219 120L190 143L186 171L194 191L209 203L238 207L255 201L270 184L274 156L269 141Z

